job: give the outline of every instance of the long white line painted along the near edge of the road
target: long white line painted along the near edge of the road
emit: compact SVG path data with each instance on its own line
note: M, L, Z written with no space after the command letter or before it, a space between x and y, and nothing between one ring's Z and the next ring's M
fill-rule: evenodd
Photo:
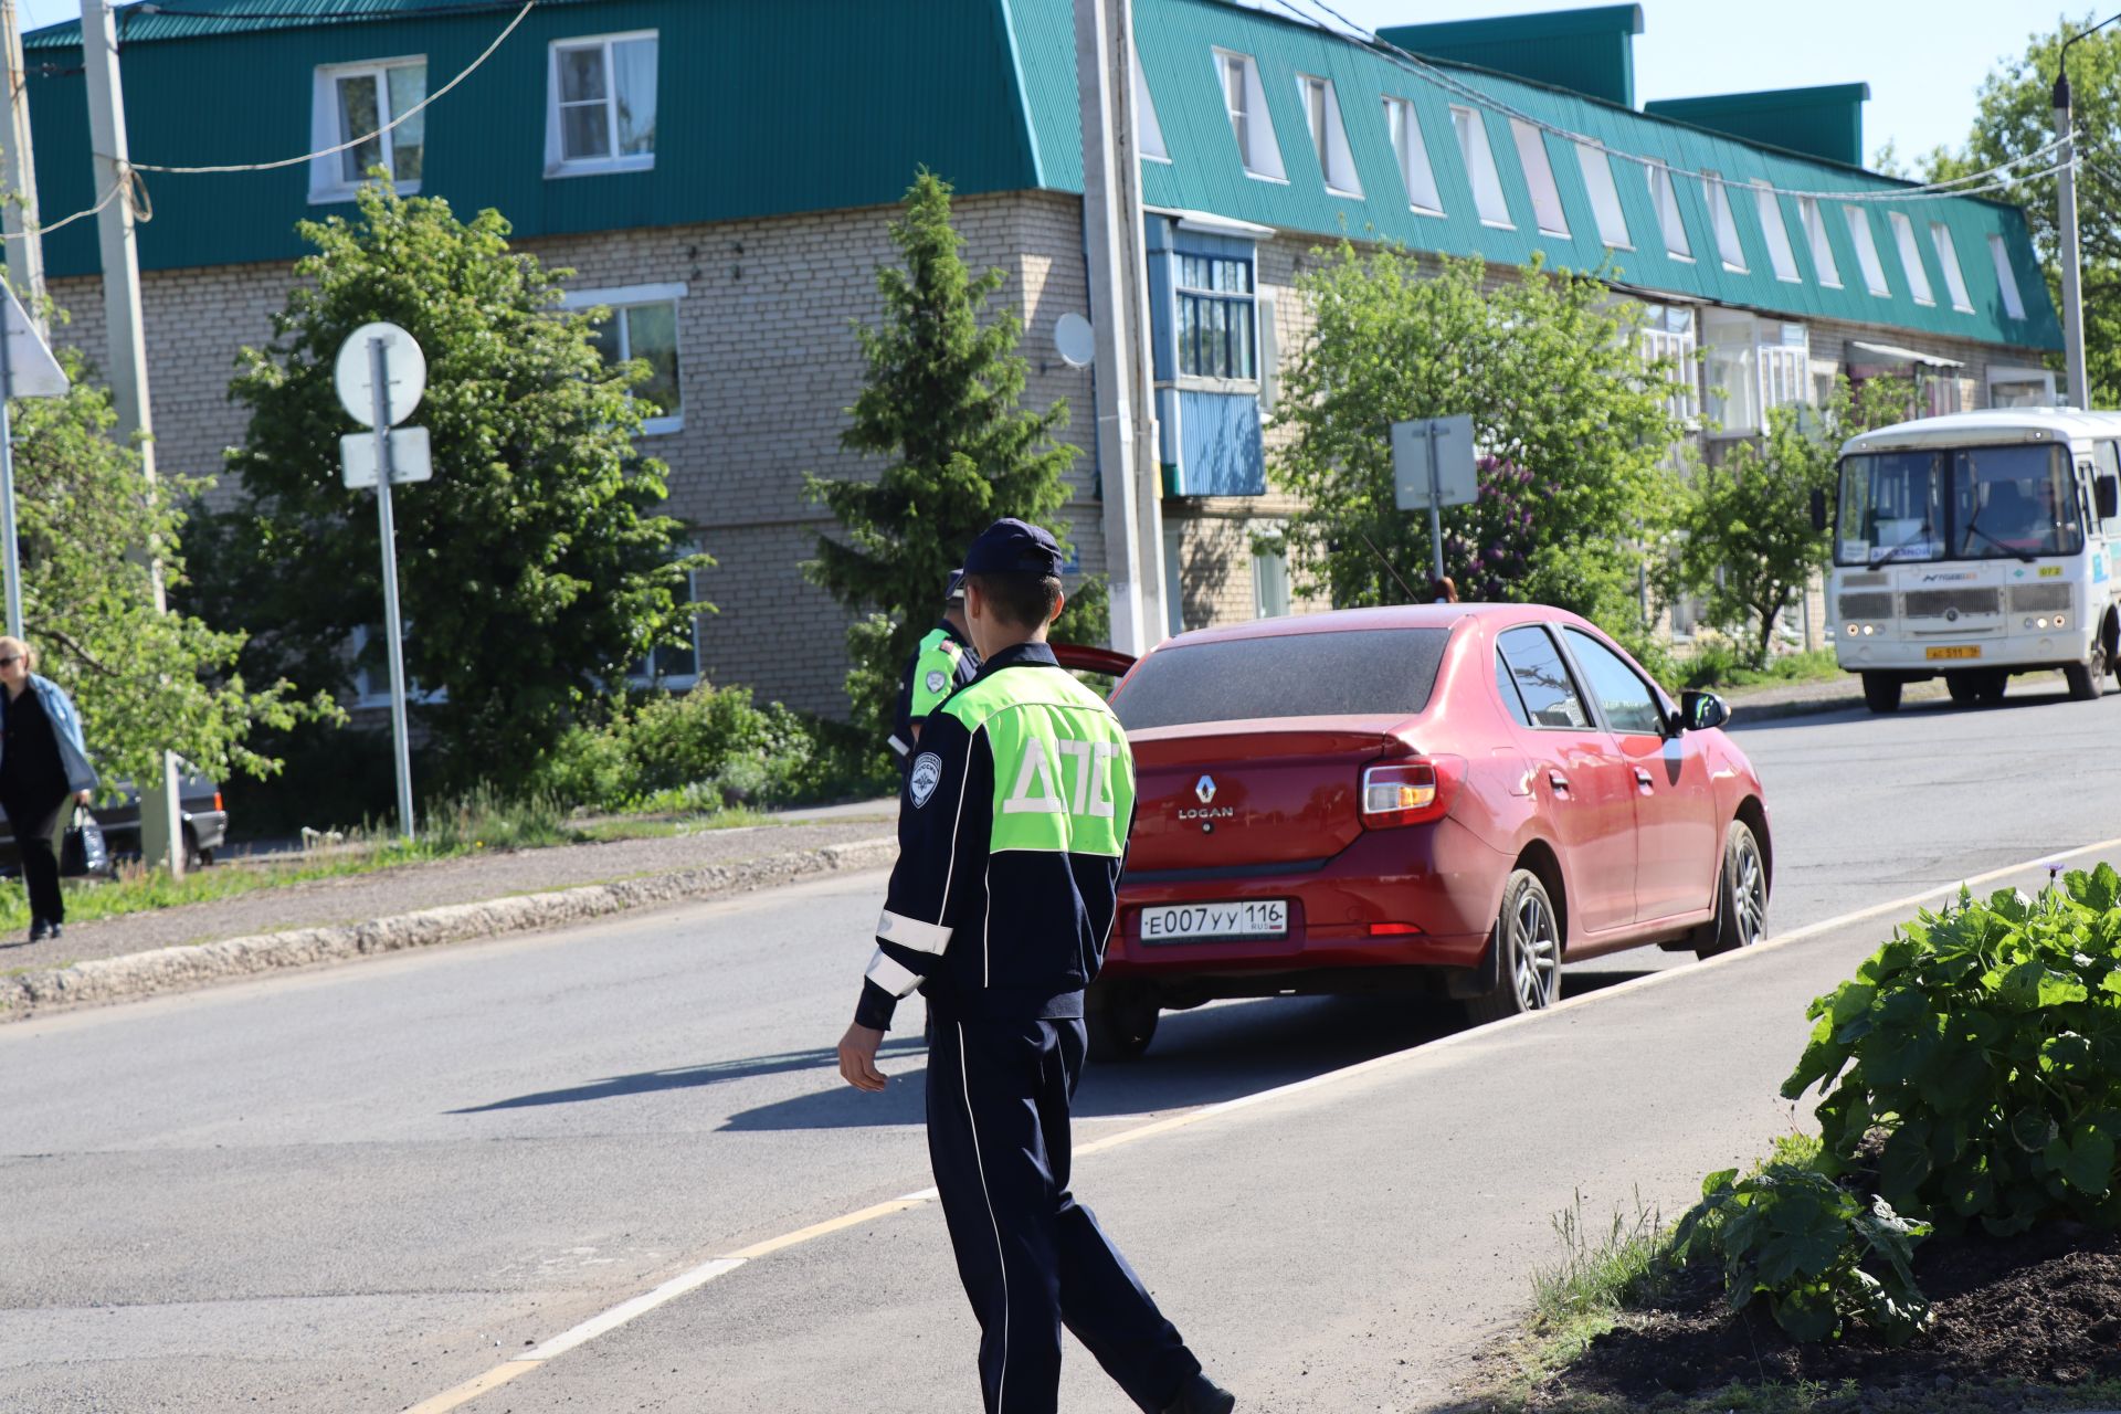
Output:
M1618 982L1618 984L1614 984L1610 988L1599 988L1597 992L1587 992L1582 996L1567 996L1567 998L1555 1003L1553 1007L1548 1007L1546 1011L1529 1011L1525 1015L1512 1015L1506 1022L1489 1022L1487 1026L1472 1026L1468 1030L1459 1030L1459 1032L1453 1032L1449 1037L1440 1037L1436 1041L1423 1041L1419 1045L1410 1045L1410 1047L1400 1049L1400 1051L1387 1051L1383 1056L1372 1056L1370 1060L1360 1060L1360 1062L1355 1062L1351 1066L1340 1066L1338 1071L1324 1071L1319 1075L1313 1075L1313 1077L1307 1077L1307 1079L1300 1079L1300 1081L1290 1081L1287 1085L1275 1085L1270 1090L1256 1090L1254 1094L1241 1094L1241 1096L1237 1096L1232 1100L1220 1100L1215 1104L1203 1104L1200 1109L1192 1109L1192 1111L1186 1111L1181 1115L1169 1115L1164 1119L1154 1119L1154 1121L1137 1126L1133 1130L1122 1130L1120 1134L1107 1134L1105 1138L1092 1138L1086 1145L1075 1145L1075 1157L1080 1160L1080 1157L1090 1155L1090 1153L1103 1153L1107 1149L1118 1149L1120 1145L1130 1145L1130 1143L1137 1143L1137 1141L1143 1141L1143 1138L1154 1138L1156 1134L1169 1134L1171 1130L1181 1130L1181 1128L1200 1124L1203 1119L1215 1119L1220 1115L1228 1115L1228 1113L1234 1113L1234 1111L1241 1111L1241 1109L1251 1109L1256 1104L1264 1104L1266 1100L1281 1100L1281 1098L1287 1098L1292 1094L1302 1094L1307 1090L1321 1090L1326 1085L1336 1085L1340 1081L1349 1081L1349 1079L1355 1079L1360 1075L1368 1075L1372 1071L1383 1071L1385 1066L1398 1064L1398 1062L1408 1060L1413 1056L1434 1056L1436 1051L1449 1049L1453 1045L1463 1045L1468 1041L1485 1041L1485 1039L1493 1037L1497 1030L1502 1030L1506 1026L1536 1024L1542 1018L1553 1015L1555 1011L1567 1011L1572 1007L1589 1007L1589 1005L1593 1005L1593 1003L1597 1003L1597 1001L1601 1001L1606 996L1620 996L1625 992L1640 992L1644 988L1663 986L1663 984L1671 982L1673 977L1693 977L1693 975L1699 975L1701 969L1705 969L1705 967L1731 967L1733 962L1739 962L1741 958L1756 956L1756 954L1767 952L1771 948L1788 948L1790 943L1803 943L1803 941L1820 937L1824 933L1837 933L1839 929L1847 929L1847 926L1854 926L1858 922L1869 922L1871 918L1883 918L1886 914L1905 914L1909 909L1922 907L1924 903L1934 903L1939 897L1947 897L1947 899L1949 897L1958 897L1960 888L1979 888L1981 884L1994 884L1996 880L2009 878L2013 873L2023 873L2026 869L2040 869L2045 865L2059 865L2059 863L2070 861L2070 859L2081 859L2085 854L2100 854L2100 852L2110 852L2110 850L2121 850L2121 839L2100 839L2098 844L2083 844L2083 846L2076 846L2074 850L2062 850L2057 854L2040 854L2038 859L2028 859L2028 861L2021 861L2021 863L2015 863L2015 865L2002 865L2000 869L1989 869L1987 873L1977 873L1977 876L1973 876L1968 880L1962 880L1958 884L1945 884L1945 886L1936 886L1936 888L1924 888L1922 892L1903 895L1903 897L1892 899L1888 903L1873 903L1871 907L1860 907L1860 909L1850 912L1850 914L1837 914L1835 918L1822 918L1820 922L1809 922L1803 929L1790 929L1788 933L1780 933L1775 937L1760 939L1752 948L1739 948L1737 952L1726 952L1722 956L1703 958L1703 960L1699 960L1699 962L1695 962L1690 967L1669 967L1669 969L1663 969L1663 971L1646 973L1642 977L1631 977L1629 982ZM577 1325L577 1327L573 1327L568 1331L562 1331L560 1336L554 1336L545 1344L534 1346L530 1350L524 1350L520 1357L515 1357L511 1361L503 1361L501 1365L494 1365L486 1374L475 1376L471 1380L464 1380L456 1389L443 1391L443 1393L435 1395L433 1399L424 1399L424 1401L411 1406L405 1414L448 1414L450 1410L460 1410L462 1406L471 1403L479 1395L486 1395L488 1391L494 1391L494 1389L507 1384L509 1380L537 1369L541 1363L545 1363L545 1361L549 1361L549 1359L554 1359L558 1355L564 1355L566 1350L573 1350L575 1346L581 1346L581 1344L585 1344L590 1340L596 1340L598 1336L615 1331L617 1327L626 1325L628 1321L634 1321L636 1316L643 1316L643 1314L655 1310L658 1306L662 1306L662 1304L666 1304L666 1302L670 1302L670 1300L674 1300L679 1295L685 1295L687 1291L696 1291L696 1289L704 1287L706 1283L715 1280L717 1276L734 1272L736 1268L744 1266L747 1261L757 1261L759 1257L766 1257L770 1253L776 1253L776 1251L783 1251L783 1249L789 1249L789 1247L797 1247L802 1242L810 1242L812 1238L821 1238L821 1236L827 1236L827 1234L834 1234L834 1232L844 1232L846 1227L859 1227L861 1223L870 1223L870 1221L876 1221L880 1217L889 1217L893 1213L906 1213L910 1208L918 1208L918 1206L931 1204L935 1200L937 1200L935 1189L933 1187L925 1187L925 1189L906 1194L901 1198L893 1198L889 1202L880 1202L880 1204L874 1204L874 1206L867 1206L867 1208L859 1208L855 1213L846 1213L842 1217L827 1219L823 1223L812 1223L810 1227L800 1227L795 1232L781 1234L778 1238L766 1238L764 1242L753 1242L751 1247L747 1247L747 1249L742 1249L738 1253L732 1253L728 1257L711 1257L708 1261L702 1261L700 1266L691 1268L689 1272L681 1272L681 1274L672 1276L670 1280L662 1283L653 1291L645 1291L645 1293L641 1293L641 1295L636 1295L636 1297L632 1297L628 1302L619 1302L611 1310L604 1310L602 1314L590 1316L581 1325Z

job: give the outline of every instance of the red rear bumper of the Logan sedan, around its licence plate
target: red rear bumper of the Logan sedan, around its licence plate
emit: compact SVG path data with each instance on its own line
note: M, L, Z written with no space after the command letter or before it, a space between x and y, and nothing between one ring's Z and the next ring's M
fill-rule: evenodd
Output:
M1317 865L1130 869L1120 880L1120 920L1101 979L1474 967L1508 871L1510 856L1451 818L1366 831ZM1287 937L1141 941L1143 907L1234 899L1287 899Z

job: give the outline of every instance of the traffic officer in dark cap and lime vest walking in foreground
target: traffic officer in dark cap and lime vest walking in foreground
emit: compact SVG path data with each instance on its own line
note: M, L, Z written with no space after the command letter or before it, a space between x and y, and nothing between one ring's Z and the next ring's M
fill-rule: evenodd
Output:
M906 772L840 1075L884 1088L876 1049L918 986L935 1020L929 1160L980 1319L988 1414L1056 1410L1063 1325L1150 1414L1226 1414L1232 1395L1069 1194L1082 992L1118 914L1135 761L1111 708L1046 647L1060 602L1050 534L999 519L974 541L965 623L984 664Z

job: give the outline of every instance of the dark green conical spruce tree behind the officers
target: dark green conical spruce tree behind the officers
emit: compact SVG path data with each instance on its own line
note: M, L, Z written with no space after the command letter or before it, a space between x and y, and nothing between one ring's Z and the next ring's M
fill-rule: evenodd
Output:
M950 225L950 184L921 172L891 225L901 265L880 265L884 318L855 324L867 384L848 409L840 445L880 458L876 477L808 477L808 494L840 522L819 536L804 570L848 608L853 670L846 691L855 723L882 742L897 700L899 668L942 613L942 587L965 547L1001 515L1046 526L1067 547L1054 511L1069 498L1077 447L1056 441L1065 399L1046 411L1022 407L1022 333L1007 307L986 318L1003 271L974 276ZM1063 632L1099 632L1097 589L1088 617Z

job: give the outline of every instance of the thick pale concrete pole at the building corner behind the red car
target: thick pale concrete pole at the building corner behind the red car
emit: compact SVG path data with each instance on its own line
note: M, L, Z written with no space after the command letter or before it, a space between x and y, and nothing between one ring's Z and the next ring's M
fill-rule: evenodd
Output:
M1164 534L1154 384L1147 358L1147 259L1135 151L1130 0L1075 0L1082 104L1082 204L1097 333L1097 466L1105 505L1111 647L1162 642Z

